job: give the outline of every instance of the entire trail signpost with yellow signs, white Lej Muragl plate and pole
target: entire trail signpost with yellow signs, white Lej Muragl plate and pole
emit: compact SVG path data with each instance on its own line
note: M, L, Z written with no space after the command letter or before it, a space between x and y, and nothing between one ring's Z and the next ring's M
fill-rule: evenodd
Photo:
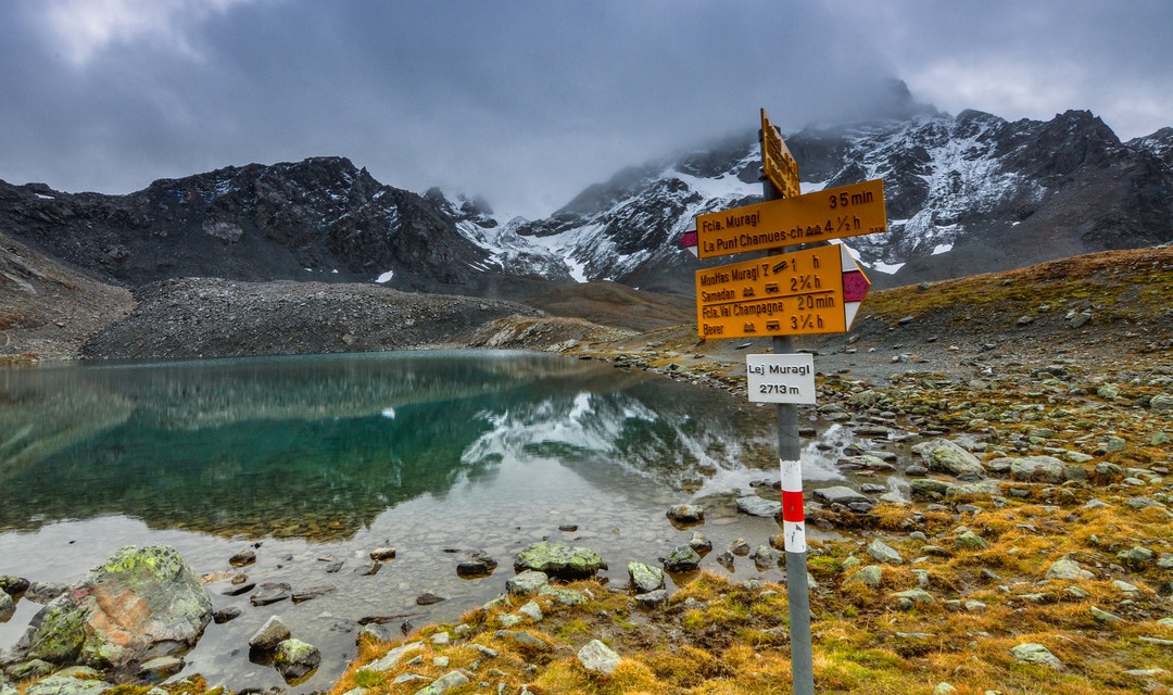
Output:
M779 251L883 232L888 222L882 180L800 195L798 163L766 117L766 109L761 109L761 169L765 203L698 216L696 233L683 236L682 245L696 244L700 258L772 252L765 258L697 271L697 335L773 336L773 354L747 359L746 374L751 383L758 381L761 391L752 401L778 404L791 676L795 695L814 695L796 410L796 403L815 400L811 374L814 367L811 361L796 361L791 336L846 332L870 284L842 244L793 253ZM802 376L804 381L793 381L792 376ZM804 387L811 393L804 394Z

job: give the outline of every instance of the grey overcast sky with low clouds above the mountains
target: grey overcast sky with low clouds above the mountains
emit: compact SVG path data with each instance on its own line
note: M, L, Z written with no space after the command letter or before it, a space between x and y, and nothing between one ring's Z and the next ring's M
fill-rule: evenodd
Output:
M1148 135L1173 125L1173 1L2 0L0 179L126 193L340 155L533 218L761 107L857 120L893 79Z

